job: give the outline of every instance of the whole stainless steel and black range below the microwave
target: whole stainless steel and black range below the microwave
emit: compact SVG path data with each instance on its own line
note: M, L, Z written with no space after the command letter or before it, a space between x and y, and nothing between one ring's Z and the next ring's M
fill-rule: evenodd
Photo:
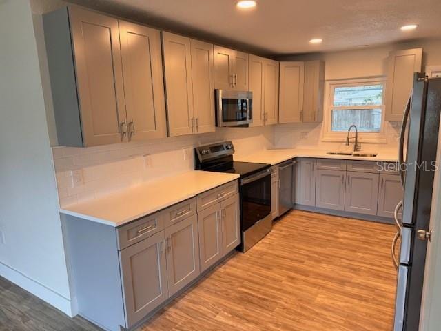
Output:
M271 170L266 163L234 162L231 141L194 149L196 170L240 174L240 250L246 252L271 231Z

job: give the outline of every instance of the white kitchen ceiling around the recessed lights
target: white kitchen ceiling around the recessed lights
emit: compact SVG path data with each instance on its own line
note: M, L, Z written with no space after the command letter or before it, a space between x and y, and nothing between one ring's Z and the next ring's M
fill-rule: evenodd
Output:
M254 10L235 0L67 1L273 57L441 37L440 0L257 0ZM419 26L402 32L409 23Z

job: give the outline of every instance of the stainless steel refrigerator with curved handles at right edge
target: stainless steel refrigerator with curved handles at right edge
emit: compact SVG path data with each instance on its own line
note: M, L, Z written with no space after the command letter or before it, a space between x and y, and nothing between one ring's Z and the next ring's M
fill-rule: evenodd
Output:
M441 78L428 79L424 73L416 73L400 135L404 199L396 208L398 232L392 244L398 269L394 331L417 331L420 323L440 112ZM398 217L400 209L402 217ZM397 261L394 251L399 237Z

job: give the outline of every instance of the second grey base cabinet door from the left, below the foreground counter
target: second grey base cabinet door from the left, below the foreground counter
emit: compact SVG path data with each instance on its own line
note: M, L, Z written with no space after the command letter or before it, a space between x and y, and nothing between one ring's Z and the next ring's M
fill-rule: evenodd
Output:
M196 279L199 270L198 218L188 217L165 229L168 294Z

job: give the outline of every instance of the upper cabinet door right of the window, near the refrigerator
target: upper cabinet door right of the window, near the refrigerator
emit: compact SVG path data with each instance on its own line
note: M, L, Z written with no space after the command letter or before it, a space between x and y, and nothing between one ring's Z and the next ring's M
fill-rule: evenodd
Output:
M397 50L387 60L386 121L402 121L411 94L413 73L421 71L422 48Z

